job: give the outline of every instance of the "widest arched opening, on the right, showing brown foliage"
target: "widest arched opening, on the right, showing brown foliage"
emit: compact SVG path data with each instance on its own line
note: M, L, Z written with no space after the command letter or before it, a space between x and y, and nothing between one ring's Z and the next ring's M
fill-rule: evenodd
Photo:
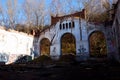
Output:
M94 31L89 36L90 57L107 57L106 39L102 32Z

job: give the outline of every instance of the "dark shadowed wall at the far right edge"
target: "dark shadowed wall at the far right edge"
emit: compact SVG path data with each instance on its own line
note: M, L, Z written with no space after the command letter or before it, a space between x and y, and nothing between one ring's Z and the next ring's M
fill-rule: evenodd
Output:
M118 0L117 4L114 6L115 9L115 17L113 22L113 33L114 40L116 45L116 58L120 59L120 0Z

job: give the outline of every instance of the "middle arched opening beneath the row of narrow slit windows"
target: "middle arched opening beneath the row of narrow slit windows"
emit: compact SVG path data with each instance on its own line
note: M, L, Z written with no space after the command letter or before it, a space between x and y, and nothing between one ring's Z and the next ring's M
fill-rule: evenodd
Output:
M62 55L73 54L76 53L76 41L75 37L71 33L65 33L61 37L61 53Z

